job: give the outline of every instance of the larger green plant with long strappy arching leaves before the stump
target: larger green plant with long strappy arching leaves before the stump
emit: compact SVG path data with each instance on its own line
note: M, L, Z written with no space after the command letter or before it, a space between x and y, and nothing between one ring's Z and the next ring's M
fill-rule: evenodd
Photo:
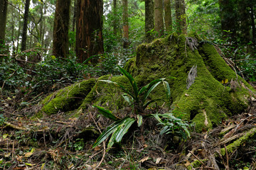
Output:
M119 66L118 66L119 67ZM101 142L107 139L111 134L110 140L108 142L107 148L112 147L114 145L114 142L121 142L122 137L128 132L129 128L132 126L133 123L137 121L138 126L142 125L142 115L144 112L144 109L146 106L149 106L150 103L153 103L156 100L146 101L147 97L153 91L156 86L158 86L161 82L164 84L164 88L166 89L166 97L167 100L169 100L171 96L169 83L167 81L164 81L164 79L156 79L154 81L151 81L151 83L147 84L146 86L143 86L141 89L138 88L136 81L132 77L131 74L129 74L125 69L122 69L122 67L119 67L122 74L124 74L127 79L129 79L129 83L132 86L132 91L129 91L128 89L124 88L121 84L118 84L117 82L110 81L110 80L100 80L107 83L114 84L118 88L122 89L124 91L124 99L128 101L129 103L132 103L134 106L134 113L137 115L137 118L117 118L117 116L113 115L111 111L102 108L100 106L94 106L98 109L98 111L105 116L106 118L109 118L111 120L114 120L114 123L112 123L102 134L97 138L95 144L92 146L93 148L97 145L100 145ZM174 77L171 77L174 78ZM146 115L149 116L149 115Z

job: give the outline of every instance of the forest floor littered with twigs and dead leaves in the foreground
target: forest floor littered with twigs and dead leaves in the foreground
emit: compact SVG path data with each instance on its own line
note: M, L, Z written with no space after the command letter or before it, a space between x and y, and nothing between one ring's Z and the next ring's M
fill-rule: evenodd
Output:
M159 135L161 127L147 118L110 150L105 142L92 149L97 135L82 131L109 125L93 108L79 118L58 113L31 119L41 108L15 109L9 100L1 103L0 169L256 169L255 98L245 113L213 130L191 132L186 141Z

